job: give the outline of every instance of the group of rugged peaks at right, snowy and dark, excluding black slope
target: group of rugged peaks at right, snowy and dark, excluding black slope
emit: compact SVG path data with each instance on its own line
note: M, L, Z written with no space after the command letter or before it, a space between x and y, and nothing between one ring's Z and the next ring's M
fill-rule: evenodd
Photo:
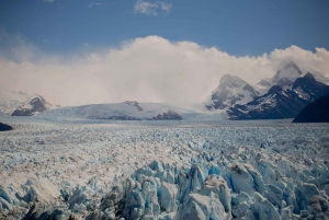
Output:
M309 72L303 76L293 61L273 78L261 80L257 88L262 91L238 77L224 76L205 107L226 109L229 119L294 118L307 104L329 93L327 84Z

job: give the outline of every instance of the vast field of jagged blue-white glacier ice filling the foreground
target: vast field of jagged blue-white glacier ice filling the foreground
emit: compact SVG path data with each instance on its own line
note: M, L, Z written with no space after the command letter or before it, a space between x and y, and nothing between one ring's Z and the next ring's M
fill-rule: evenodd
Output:
M8 117L0 219L329 218L329 125Z

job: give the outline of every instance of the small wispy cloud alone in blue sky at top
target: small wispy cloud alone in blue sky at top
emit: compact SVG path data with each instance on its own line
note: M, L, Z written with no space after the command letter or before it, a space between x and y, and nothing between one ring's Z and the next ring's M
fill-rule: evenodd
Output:
M157 16L159 10L162 10L166 15L168 15L171 10L171 3L166 3L162 1L150 3L144 0L137 0L136 4L134 5L135 13L141 13L146 15Z

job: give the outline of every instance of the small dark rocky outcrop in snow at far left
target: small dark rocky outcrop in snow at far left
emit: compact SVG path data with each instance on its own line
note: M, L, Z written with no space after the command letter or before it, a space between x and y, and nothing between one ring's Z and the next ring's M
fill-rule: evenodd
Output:
M29 107L22 106L15 109L11 116L33 116L37 112L47 111L47 102L42 96L34 97L30 103Z

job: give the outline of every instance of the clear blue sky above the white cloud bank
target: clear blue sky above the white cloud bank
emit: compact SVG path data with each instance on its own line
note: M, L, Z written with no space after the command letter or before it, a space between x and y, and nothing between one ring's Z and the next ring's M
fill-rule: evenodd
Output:
M148 35L235 56L291 45L315 50L329 48L328 24L328 0L0 0L0 30L50 54L116 47Z

